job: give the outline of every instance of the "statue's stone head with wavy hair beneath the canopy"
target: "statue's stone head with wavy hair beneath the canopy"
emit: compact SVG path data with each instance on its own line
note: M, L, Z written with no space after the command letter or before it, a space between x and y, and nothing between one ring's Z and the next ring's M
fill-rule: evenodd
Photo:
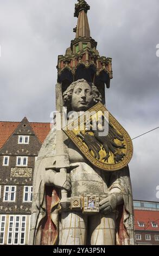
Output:
M101 94L93 83L81 79L73 82L63 93L64 106L73 111L86 111L101 101Z

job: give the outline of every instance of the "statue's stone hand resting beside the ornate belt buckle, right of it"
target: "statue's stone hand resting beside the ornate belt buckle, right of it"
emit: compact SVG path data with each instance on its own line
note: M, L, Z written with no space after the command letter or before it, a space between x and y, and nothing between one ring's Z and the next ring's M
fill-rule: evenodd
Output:
M109 194L109 196L101 200L99 203L99 210L104 214L110 214L112 211L116 210L116 207L117 207L116 194Z

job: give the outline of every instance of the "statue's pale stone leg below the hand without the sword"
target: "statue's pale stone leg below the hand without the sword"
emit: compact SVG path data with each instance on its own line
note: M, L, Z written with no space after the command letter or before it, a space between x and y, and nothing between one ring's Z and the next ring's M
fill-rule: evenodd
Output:
M115 245L115 214L90 216L91 245Z

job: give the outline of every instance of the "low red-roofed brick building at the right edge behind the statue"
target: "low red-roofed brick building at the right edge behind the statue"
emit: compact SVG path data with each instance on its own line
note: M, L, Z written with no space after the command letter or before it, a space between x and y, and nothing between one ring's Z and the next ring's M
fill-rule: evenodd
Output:
M137 245L159 245L159 202L133 201Z

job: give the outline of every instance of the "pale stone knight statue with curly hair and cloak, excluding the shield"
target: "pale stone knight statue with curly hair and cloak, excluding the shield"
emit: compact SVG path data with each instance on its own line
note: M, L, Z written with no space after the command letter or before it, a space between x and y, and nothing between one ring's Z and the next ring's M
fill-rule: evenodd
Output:
M99 101L101 94L98 88L84 79L73 82L63 93L64 105L76 112L87 111ZM56 169L56 161L60 157L56 155L56 135L57 131L52 129L36 161L30 244L133 245L129 167L115 172L99 169L90 164L64 135L69 168L67 173L59 172ZM61 209L63 190L67 191L70 200L76 199L74 208ZM99 206L99 211L84 213L75 209L84 196L87 197L88 209L93 211Z

